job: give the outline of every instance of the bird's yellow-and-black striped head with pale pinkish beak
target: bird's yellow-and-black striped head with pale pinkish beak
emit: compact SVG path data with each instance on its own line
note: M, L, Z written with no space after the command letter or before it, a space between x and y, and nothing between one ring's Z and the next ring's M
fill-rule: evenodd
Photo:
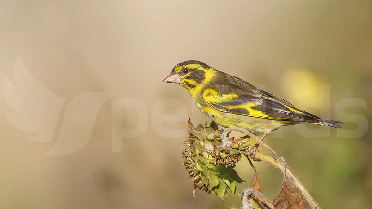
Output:
M173 67L172 72L164 78L166 83L179 83L187 90L199 89L213 77L215 69L209 65L196 61L183 61Z

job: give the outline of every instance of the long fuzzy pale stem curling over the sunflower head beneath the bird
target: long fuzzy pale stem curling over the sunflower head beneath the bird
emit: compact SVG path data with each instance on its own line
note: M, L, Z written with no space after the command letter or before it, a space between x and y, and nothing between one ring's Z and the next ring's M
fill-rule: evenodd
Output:
M270 152L270 154L273 157L262 154L261 152L256 152L254 157L279 168L283 172L284 178L288 178L292 181L292 183L300 190L302 196L304 197L305 200L307 200L307 202L310 204L312 208L320 208L318 203L315 202L314 198L312 198L310 193L302 185L301 181L293 173L291 168L289 168L288 165L286 165L284 158L279 157L272 148L270 148L266 143L261 141L256 135L252 134L250 131L246 129L242 129L242 128L237 128L237 127L231 127L231 128L225 129L222 132L222 141L225 141L225 144L224 144L225 146L226 145L229 146L231 144L231 141L228 139L228 134L230 134L231 131L238 131L238 132L247 134L248 136L251 136L251 138L256 140L257 143L262 144ZM230 144L228 142L230 142ZM246 156L248 157L249 155L246 155Z

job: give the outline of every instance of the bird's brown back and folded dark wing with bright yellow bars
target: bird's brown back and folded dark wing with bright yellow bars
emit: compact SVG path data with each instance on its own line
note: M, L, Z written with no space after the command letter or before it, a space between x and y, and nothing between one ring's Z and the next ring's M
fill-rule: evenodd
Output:
M238 115L310 123L316 123L319 119L296 109L274 94L228 74L221 75L206 86L203 99L221 112Z

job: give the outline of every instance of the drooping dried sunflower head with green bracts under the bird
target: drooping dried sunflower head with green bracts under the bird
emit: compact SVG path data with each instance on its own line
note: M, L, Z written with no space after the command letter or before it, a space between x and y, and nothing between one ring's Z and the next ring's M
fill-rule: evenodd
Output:
M182 151L182 158L194 189L217 194L221 199L227 191L238 194L235 182L245 181L233 167L241 160L246 144L221 150L221 132L216 127L206 124L194 128L190 120L188 126L189 139L185 141L186 149Z

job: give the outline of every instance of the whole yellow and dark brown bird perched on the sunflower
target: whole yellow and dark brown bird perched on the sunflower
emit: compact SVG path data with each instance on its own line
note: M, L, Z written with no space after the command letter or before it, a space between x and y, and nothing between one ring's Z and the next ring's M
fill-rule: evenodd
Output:
M218 125L247 129L263 135L261 140L281 126L302 122L341 128L341 122L300 110L274 94L200 61L180 62L163 82L185 87L199 110ZM253 158L257 147L258 144L251 150Z

